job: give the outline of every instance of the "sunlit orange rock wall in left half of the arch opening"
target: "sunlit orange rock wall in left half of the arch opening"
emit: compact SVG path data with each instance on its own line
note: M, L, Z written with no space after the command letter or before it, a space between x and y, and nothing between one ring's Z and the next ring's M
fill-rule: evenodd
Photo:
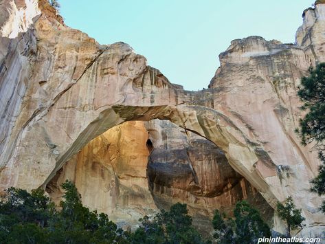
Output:
M109 214L119 225L136 227L138 219L157 210L146 177L147 140L142 121L109 129L58 171L47 184L47 192L58 203L63 195L60 185L69 179L85 206Z

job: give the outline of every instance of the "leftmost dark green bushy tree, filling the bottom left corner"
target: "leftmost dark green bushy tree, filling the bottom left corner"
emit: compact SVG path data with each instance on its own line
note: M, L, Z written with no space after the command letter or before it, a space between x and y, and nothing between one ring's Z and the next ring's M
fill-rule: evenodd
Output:
M0 240L3 243L42 243L55 214L54 203L41 189L9 188L0 201Z

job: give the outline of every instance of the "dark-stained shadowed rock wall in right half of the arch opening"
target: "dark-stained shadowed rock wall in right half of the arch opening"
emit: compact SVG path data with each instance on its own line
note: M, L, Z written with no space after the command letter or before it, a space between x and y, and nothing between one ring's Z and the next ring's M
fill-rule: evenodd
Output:
M229 166L225 153L214 143L167 120L152 120L146 129L153 144L148 183L157 208L186 203L194 225L203 233L212 232L215 209L232 216L234 205L243 199L273 221L273 209Z

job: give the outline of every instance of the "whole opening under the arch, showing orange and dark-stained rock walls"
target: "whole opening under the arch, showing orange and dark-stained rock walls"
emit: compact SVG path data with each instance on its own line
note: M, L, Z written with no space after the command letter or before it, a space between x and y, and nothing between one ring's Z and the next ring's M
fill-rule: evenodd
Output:
M249 182L229 166L214 143L167 120L131 121L91 140L53 177L46 190L58 204L66 179L76 184L82 202L131 229L145 214L188 204L194 225L212 231L218 208L231 214L247 199L269 223L273 210Z

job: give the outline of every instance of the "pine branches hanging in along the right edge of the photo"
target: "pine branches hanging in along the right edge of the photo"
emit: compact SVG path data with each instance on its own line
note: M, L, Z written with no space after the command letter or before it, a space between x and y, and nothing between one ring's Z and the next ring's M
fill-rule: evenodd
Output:
M319 175L311 181L311 190L325 195L325 63L309 69L309 76L302 77L298 96L304 102L302 109L307 111L298 130L302 143L312 144L322 161ZM325 201L320 208L325 212Z

